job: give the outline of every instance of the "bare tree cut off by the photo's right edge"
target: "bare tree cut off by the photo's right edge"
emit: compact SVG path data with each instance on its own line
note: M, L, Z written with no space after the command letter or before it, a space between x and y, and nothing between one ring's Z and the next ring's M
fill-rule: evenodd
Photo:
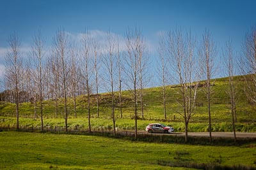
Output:
M244 75L246 85L244 92L249 103L255 110L256 105L256 25L246 32L243 41L240 71ZM255 111L250 113L253 122L256 122Z

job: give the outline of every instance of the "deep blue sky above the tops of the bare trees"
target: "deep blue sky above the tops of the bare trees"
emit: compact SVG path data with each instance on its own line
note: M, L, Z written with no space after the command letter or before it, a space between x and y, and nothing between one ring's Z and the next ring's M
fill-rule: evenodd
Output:
M70 34L79 34L86 28L110 30L124 36L127 27L138 25L150 48L156 48L159 31L177 26L191 29L200 41L206 28L221 53L229 38L235 50L241 50L244 34L256 24L253 0L1 0L0 3L0 65L8 48L8 36L14 31L26 49L38 29L50 44L60 27Z

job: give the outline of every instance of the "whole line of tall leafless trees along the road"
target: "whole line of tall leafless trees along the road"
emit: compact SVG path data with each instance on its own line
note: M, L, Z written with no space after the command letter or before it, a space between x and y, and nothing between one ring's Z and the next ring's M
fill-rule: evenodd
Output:
M145 38L139 27L129 28L125 32L125 43L120 43L118 36L108 32L104 45L96 37L89 35L85 29L79 42L71 41L64 29L59 29L52 38L51 48L45 46L45 39L39 30L33 35L31 52L28 60L20 52L20 38L13 33L8 38L10 50L5 57L4 97L2 100L15 103L17 129L19 129L19 105L24 101L32 101L40 108L41 130L44 131L43 101L53 99L55 115L61 113L65 118L65 129L68 131L67 98L74 101L74 115L77 117L76 97L83 94L86 97L88 113L88 129L91 132L90 97L95 94L97 101L97 117L99 111L100 87L111 95L111 117L113 134L115 135L115 92L118 91L118 107L122 118L122 84L131 92L134 103L135 138L137 137L138 110L143 114L143 89L148 85L153 66ZM228 76L227 94L230 97L230 114L236 141L236 82L235 69L244 76L246 87L244 94L256 104L256 27L246 32L242 42L243 51L237 57L234 54L232 40L228 40L220 53L209 30L205 30L200 41L191 31L180 28L171 29L167 34L159 36L157 48L159 66L156 73L163 87L163 116L166 118L166 87L179 84L180 99L177 99L182 111L177 111L184 119L186 141L188 141L188 125L195 114L196 100L200 81L205 80L204 92L207 98L209 115L209 136L211 138L211 99L212 79L218 69L218 55L222 56L225 71ZM239 64L238 64L239 63ZM123 89L124 89L123 87ZM59 100L63 99L64 109L60 110ZM138 105L140 101L140 106Z

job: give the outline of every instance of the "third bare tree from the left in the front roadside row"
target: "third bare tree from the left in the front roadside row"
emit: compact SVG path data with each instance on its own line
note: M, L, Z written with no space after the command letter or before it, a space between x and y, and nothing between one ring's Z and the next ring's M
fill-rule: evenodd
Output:
M60 71L60 87L64 98L65 131L68 131L68 108L67 108L67 80L70 73L68 67L69 43L68 36L63 30L58 30L54 37L54 52L59 58L58 70Z

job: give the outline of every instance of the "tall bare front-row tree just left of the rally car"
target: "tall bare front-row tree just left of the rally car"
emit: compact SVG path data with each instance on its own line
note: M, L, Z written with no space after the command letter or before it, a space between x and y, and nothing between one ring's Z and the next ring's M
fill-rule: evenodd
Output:
M135 121L135 138L138 135L138 89L140 87L140 50L143 47L141 44L142 36L138 27L127 29L126 32L126 52L124 56L124 73L125 85L132 92L132 100L134 101L134 121Z

